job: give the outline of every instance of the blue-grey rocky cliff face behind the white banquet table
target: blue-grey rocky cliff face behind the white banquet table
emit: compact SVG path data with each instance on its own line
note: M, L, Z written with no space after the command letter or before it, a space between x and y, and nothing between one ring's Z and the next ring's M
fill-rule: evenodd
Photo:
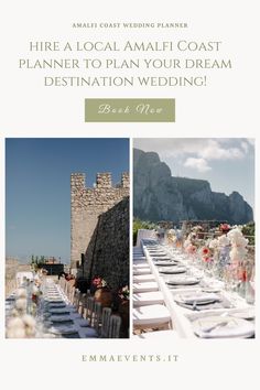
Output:
M217 219L245 224L253 219L242 196L213 192L207 181L174 177L154 152L133 150L133 214L144 220Z

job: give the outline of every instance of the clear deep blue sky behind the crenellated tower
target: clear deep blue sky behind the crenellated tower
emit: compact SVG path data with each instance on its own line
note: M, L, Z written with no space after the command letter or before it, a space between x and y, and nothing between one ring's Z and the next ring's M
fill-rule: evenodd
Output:
M111 172L113 184L129 171L128 139L7 139L6 253L61 257L69 262L71 173Z

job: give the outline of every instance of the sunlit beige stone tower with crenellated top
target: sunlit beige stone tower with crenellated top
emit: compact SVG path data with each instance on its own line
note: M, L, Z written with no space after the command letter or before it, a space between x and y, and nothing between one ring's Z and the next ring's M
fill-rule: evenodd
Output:
M129 196L129 174L122 173L121 183L112 186L110 173L98 173L96 186L85 186L85 174L71 175L71 268L76 272L82 253L96 229L98 217Z

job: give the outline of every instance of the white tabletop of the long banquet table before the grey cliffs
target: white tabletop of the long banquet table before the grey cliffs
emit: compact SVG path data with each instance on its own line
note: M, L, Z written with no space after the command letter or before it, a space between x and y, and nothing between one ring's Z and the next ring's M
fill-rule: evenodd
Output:
M159 284L159 289L162 291L164 295L165 305L167 306L171 313L173 328L176 329L180 337L197 338L197 335L194 332L194 321L198 318L204 318L205 321L205 318L206 317L208 318L210 315L215 317L219 316L219 318L221 318L220 326L225 325L225 317L227 316L234 316L234 317L237 316L238 318L248 317L247 319L250 321L250 326L249 326L250 332L249 332L249 337L247 338L253 337L254 335L253 304L248 304L246 300L241 297L238 293L225 290L225 284L223 281L217 280L216 278L208 277L204 271L197 269L195 264L188 263L187 256L182 253L180 250L173 249L169 246L156 243L153 240L142 240L141 247L143 249L143 253L147 258L147 261L151 268L151 271L154 274L154 278ZM165 258L169 258L172 261L173 260L178 261L180 267L186 268L186 272L188 273L188 275L196 275L196 277L199 275L199 280L201 280L199 284L187 285L187 286L183 285L176 288L169 285L167 281L170 275L160 272L160 267L158 267L156 261L154 261L155 252L152 252L153 248L155 248L155 250L161 252L161 259L164 258L163 253L165 253L164 254ZM206 306L204 308L203 306L201 306L199 310L197 310L196 306L187 308L185 307L185 305L184 306L180 305L180 302L178 303L175 302L177 295L180 296L182 294L187 294L187 293L199 294L202 293L202 291L208 291L208 292L216 291L218 294L221 295L224 302L226 302L226 306L224 305L221 307L220 305L217 305L216 308L215 307L208 308ZM238 321L241 322L241 319ZM208 336L210 337L209 332L208 332ZM235 337L235 335L230 333L230 337Z

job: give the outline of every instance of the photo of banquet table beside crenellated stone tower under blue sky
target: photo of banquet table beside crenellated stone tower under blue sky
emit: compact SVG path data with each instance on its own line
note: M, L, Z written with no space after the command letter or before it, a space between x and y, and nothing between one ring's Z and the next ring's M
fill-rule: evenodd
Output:
M129 139L6 139L6 337L129 337Z

